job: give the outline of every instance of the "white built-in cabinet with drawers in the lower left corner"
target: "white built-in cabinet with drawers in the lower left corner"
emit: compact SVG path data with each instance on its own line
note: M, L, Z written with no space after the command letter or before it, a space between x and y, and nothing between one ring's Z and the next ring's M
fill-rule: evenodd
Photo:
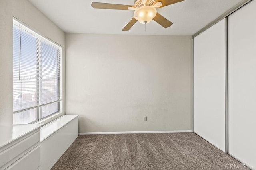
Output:
M0 125L0 170L40 169L40 127Z

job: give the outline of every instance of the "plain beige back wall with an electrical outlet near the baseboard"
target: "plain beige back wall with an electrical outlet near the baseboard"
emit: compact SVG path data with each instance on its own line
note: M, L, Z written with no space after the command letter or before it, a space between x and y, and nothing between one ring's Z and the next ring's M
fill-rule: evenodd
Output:
M66 34L79 132L191 130L191 94L190 36Z

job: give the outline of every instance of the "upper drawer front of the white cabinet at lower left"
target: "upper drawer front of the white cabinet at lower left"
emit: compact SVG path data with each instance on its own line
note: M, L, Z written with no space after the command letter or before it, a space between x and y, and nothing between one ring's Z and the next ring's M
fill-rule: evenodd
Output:
M7 164L8 162L12 161L16 161L17 159L19 159L22 155L22 153L26 150L29 151L29 149L32 149L32 146L35 145L36 143L38 143L40 141L40 131L34 133L33 135L23 139L22 141L12 145L9 148L7 148L6 150L2 151L0 153L0 167L4 166L5 164ZM28 152L26 151L26 152ZM26 152L24 152L23 154L25 154ZM21 155L20 155L21 154ZM16 156L19 156L17 157ZM10 162L11 164L12 162Z

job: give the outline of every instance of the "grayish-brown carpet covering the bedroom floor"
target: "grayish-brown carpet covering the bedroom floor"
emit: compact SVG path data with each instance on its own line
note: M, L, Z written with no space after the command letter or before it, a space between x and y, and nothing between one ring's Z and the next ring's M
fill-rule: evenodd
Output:
M194 133L79 135L52 170L226 170L226 164L241 163Z

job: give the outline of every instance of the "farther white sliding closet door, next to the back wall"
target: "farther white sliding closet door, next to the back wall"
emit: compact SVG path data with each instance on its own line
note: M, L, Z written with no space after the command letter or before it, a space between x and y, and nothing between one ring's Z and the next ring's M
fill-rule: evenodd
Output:
M225 20L194 38L194 132L225 151Z

